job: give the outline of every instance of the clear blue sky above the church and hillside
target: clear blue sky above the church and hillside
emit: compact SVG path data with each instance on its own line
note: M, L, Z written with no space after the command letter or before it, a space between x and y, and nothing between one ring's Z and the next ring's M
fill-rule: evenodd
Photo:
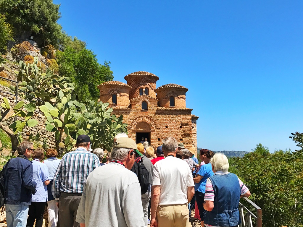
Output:
M114 80L135 71L189 89L198 147L291 148L302 130L303 1L79 1L59 23Z

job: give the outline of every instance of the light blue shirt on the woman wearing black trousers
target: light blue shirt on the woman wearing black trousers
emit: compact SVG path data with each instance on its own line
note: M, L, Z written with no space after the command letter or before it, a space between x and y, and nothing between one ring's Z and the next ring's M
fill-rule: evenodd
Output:
M35 195L32 196L32 202L46 202L47 201L47 186L45 181L49 180L48 168L44 163L38 159L32 161L33 163L33 181L37 183Z

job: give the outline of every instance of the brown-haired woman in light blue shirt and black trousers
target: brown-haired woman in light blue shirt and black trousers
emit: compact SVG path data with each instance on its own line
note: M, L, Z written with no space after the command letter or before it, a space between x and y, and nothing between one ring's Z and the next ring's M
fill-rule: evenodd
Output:
M37 148L32 153L33 181L37 183L32 203L28 206L28 218L26 226L32 227L36 220L36 227L42 227L45 202L48 201L47 185L49 185L48 168L41 161L44 159L44 150Z

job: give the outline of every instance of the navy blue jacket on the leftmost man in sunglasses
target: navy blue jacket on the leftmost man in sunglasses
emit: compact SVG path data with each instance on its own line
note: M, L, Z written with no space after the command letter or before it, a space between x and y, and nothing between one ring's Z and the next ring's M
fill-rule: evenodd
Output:
M25 155L10 159L2 169L5 184L5 204L30 205L33 181L33 165Z

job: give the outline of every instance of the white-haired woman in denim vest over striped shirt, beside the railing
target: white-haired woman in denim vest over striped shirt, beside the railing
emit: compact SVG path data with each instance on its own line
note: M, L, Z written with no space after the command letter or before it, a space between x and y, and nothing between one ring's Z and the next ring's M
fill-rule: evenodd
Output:
M250 191L237 175L228 172L229 163L224 154L216 153L210 163L215 175L206 181L204 225L238 226L240 198L250 196Z

